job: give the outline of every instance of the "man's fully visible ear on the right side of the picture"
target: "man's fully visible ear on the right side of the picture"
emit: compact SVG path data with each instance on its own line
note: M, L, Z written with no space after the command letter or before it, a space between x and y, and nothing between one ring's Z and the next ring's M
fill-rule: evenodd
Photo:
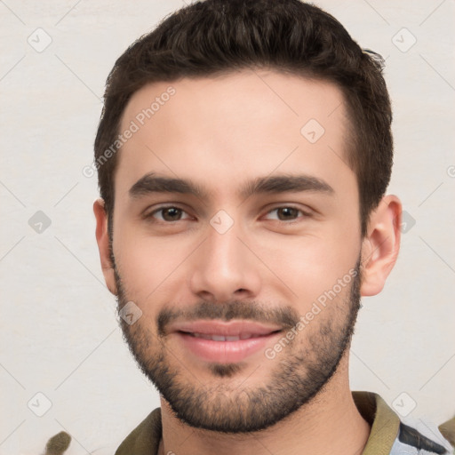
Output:
M362 243L361 294L379 294L395 266L400 250L402 204L396 196L384 196L371 213Z

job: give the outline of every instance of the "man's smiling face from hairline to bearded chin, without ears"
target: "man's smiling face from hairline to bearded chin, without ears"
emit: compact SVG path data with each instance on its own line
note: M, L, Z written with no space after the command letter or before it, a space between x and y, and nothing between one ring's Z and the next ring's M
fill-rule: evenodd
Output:
M119 309L140 315L125 339L188 425L270 427L331 379L359 307L341 92L272 71L185 78L136 92L132 123L112 226Z

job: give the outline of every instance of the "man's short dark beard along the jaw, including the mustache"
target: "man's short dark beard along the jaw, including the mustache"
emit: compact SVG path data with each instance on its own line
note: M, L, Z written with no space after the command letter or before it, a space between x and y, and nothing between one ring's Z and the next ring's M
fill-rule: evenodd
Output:
M120 311L130 299L116 266L114 269ZM178 359L166 346L166 327L178 318L185 321L248 319L290 329L299 323L299 314L293 307L270 309L247 301L223 304L202 301L190 310L166 307L156 316L156 327L144 323L145 318L131 325L120 318L124 339L141 371L180 421L190 427L221 433L263 430L312 402L337 371L350 346L361 307L360 259L354 270L356 273L342 298L337 296L323 307L316 321L308 323L275 359L264 358L264 363L273 362L273 366L270 374L257 384L239 386L233 382L243 363L208 363L215 380L203 384L197 379L197 372L188 371L182 362L187 359ZM140 302L138 306L141 307Z

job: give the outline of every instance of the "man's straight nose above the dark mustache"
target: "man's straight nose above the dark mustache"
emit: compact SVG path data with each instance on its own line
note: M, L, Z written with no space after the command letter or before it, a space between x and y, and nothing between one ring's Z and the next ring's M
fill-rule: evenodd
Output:
M207 237L191 255L191 291L200 299L224 302L254 299L259 294L259 260L234 225L220 234L209 226Z

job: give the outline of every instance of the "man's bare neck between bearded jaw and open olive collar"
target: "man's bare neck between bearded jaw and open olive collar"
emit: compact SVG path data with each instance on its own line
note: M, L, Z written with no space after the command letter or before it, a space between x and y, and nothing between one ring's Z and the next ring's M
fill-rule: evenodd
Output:
M323 390L299 411L264 431L227 435L188 427L162 398L163 439L159 455L360 455L370 426L355 407L349 388L347 355Z

